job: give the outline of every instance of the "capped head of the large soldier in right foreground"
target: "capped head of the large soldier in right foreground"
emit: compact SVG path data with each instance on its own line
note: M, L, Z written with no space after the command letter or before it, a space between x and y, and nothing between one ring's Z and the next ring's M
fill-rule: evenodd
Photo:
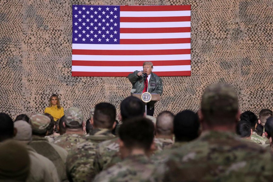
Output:
M201 112L209 126L229 125L238 113L237 93L224 83L208 86L202 95Z

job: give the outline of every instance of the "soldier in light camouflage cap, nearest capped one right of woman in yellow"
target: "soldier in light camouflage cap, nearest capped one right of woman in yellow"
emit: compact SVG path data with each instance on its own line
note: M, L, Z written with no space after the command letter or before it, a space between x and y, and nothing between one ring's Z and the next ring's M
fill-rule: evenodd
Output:
M53 143L69 151L73 146L86 141L83 136L83 113L76 107L70 107L63 120L66 133L58 136Z

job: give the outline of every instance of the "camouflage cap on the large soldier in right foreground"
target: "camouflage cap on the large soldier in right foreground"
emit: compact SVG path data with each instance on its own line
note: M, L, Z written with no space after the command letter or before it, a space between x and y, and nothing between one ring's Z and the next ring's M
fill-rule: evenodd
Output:
M201 110L234 111L238 110L238 97L232 86L216 83L208 86L202 96Z

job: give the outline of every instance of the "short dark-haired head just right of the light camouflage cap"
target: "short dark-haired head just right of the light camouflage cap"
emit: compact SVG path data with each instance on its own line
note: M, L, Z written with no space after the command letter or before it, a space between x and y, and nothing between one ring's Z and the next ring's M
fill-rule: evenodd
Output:
M113 129L116 120L116 108L110 103L99 103L95 106L93 125L96 128Z

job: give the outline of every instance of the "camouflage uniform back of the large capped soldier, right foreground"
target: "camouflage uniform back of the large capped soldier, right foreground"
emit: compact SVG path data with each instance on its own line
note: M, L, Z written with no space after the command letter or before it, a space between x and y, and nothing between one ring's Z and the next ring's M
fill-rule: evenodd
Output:
M149 181L271 181L270 152L243 142L231 132L207 131L169 156Z

